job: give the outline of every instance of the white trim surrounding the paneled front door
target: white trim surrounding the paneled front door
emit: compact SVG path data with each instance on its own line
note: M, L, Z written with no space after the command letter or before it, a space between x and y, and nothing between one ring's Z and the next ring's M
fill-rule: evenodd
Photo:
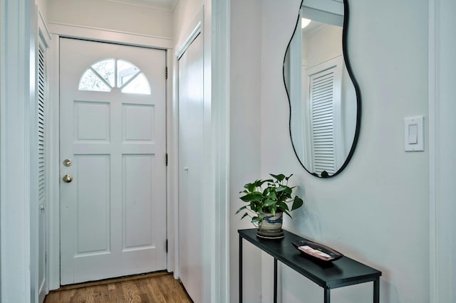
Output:
M60 277L60 164L59 164L59 140L60 138L60 124L59 124L59 112L60 112L60 82L59 82L59 70L60 70L60 44L59 39L61 37L66 38L81 38L88 39L96 42L110 42L110 43L120 43L126 46L140 46L146 48L157 48L167 50L166 61L168 69L170 69L170 58L172 58L170 48L168 45L170 43L164 43L163 41L157 39L147 39L145 36L135 35L135 34L125 34L119 33L118 35L113 35L113 31L105 31L96 28L83 28L81 26L56 26L56 23L48 24L49 31L51 33L51 60L49 66L49 85L53 87L53 90L49 92L49 111L48 117L48 128L50 129L49 137L51 138L48 142L49 147L49 161L48 161L48 171L51 182L49 182L49 204L48 204L48 289L58 289L61 285ZM106 40L100 41L93 37L110 37L116 38L118 40ZM167 41L168 38L163 38L164 41ZM155 45L157 43L159 45ZM166 112L167 112L167 129L170 125L170 96L172 90L170 83L172 83L172 75L168 73L168 78L166 80ZM52 139L56 138L56 139ZM167 141L167 151L169 150L170 142L170 132L167 130L166 134ZM169 209L169 193L170 193L170 180L169 178L169 167L167 166L167 210ZM174 233L172 226L174 218L167 214L167 238L168 242L174 241ZM170 228L171 227L171 228ZM52 232L51 232L52 230ZM167 253L167 270L174 270L174 262L172 260L173 252L168 250Z

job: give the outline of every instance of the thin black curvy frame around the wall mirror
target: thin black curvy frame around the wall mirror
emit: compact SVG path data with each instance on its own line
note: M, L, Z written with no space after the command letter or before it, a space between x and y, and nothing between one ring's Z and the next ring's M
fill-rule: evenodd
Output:
M328 174L326 174L326 176L323 176L323 174L322 174L322 176L318 176L318 174L309 171L309 169L306 169L306 166L304 166L304 163L302 163L301 159L299 159L298 153L296 152L296 148L294 147L293 139L291 137L291 100L290 100L290 94L289 94L288 88L286 87L286 81L285 81L285 59L286 59L286 53L288 52L288 50L290 48L291 40L293 39L293 37L294 37L294 35L296 33L296 30L298 28L299 18L301 18L301 14L299 14L299 12L301 11L301 7L304 4L304 1L305 0L301 0L301 4L299 5L298 18L297 18L297 21L296 21L296 25L294 26L293 34L291 35L290 41L289 41L288 45L286 46L285 55L284 55L284 64L282 65L282 77L283 77L283 80L284 80L284 86L285 86L285 90L286 90L286 97L288 98L289 110L290 110L289 111L290 140L291 140L291 145L293 146L294 154L296 155L296 158L298 159L299 164L301 164L301 166L307 172L309 172L309 174L311 174L313 176L317 176L318 178L331 178L333 176L337 176L338 174L340 174L341 171L343 171L343 169L345 169L346 166L348 165L348 162L351 160L351 158L352 158L352 156L353 156L353 154L355 152L356 144L358 144L358 138L359 138L359 133L360 133L360 129L361 129L361 111L362 111L362 107L361 107L361 90L359 88L358 81L356 81L355 75L353 75L353 70L351 69L351 63L350 63L350 60L348 58L347 35L348 35L348 20L350 18L350 14L349 14L350 9L348 8L348 0L343 0L342 52L343 52L343 61L344 61L345 65L346 65L348 76L351 78L351 81L353 83L353 87L355 87L355 92L356 92L356 127L355 127L355 134L354 134L354 137L353 137L353 144L351 144L351 149L348 152L348 156L347 156L346 160L343 162L342 166L334 174L332 174L331 176L329 176Z

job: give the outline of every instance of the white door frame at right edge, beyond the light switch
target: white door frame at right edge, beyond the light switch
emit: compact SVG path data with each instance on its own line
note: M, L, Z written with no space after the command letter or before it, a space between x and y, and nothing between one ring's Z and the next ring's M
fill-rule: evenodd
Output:
M455 41L451 17L455 4L451 0L429 1L429 282L430 302L456 302L456 216L454 163L456 140L454 88L450 82L456 67L452 54ZM450 262L448 260L450 258Z

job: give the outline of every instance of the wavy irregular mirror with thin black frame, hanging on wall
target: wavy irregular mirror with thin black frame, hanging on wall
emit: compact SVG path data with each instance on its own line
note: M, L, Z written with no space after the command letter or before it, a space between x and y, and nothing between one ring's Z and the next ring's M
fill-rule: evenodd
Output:
M345 168L358 141L361 95L347 31L347 1L303 0L284 58L291 142L304 169L323 178Z

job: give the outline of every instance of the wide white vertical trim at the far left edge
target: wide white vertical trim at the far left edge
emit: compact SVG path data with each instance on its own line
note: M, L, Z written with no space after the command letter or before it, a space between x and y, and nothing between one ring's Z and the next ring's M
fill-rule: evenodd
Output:
M36 8L29 0L1 0L0 6L0 299L29 302L38 296L38 291L31 292L38 285L33 255L38 237L33 195L38 186L32 179L37 159L32 148Z

